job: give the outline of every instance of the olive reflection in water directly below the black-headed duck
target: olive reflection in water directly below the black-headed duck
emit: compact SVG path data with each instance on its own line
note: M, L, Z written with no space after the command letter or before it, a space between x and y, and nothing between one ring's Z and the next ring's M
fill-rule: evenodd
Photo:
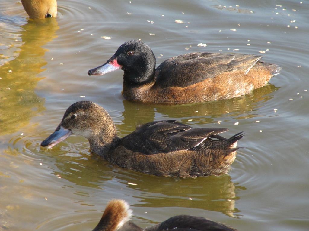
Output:
M220 100L195 104L184 105L160 105L160 104L145 104L131 102L128 100L123 101L124 117L123 124L117 125L121 131L133 131L136 124L144 124L156 120L156 114L160 113L166 119L182 118L180 122L188 122L190 119L191 125L193 124L209 124L217 122L219 117L228 117L235 119L246 119L260 115L258 108L262 107L265 102L273 98L274 91L279 87L273 84L260 87L252 91L251 94L243 95L241 97L229 100ZM153 119L150 119L153 118ZM192 122L191 122L192 121ZM128 132L130 133L130 132Z

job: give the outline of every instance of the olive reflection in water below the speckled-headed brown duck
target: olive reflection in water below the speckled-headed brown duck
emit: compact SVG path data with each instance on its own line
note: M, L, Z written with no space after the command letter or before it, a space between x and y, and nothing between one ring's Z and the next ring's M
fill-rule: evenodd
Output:
M235 208L235 201L240 199L237 193L246 190L235 186L226 174L196 179L157 177L118 168L98 156L56 153L60 156L55 160L54 175L77 185L103 190L109 190L112 184L114 197L131 195L141 202L133 205L138 207L198 208L237 217L235 213L239 213L239 209ZM116 188L121 190L118 192Z

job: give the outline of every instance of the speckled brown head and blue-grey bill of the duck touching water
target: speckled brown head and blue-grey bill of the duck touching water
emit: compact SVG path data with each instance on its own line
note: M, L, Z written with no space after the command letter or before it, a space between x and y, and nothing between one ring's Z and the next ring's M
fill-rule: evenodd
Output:
M119 138L115 124L103 107L90 101L73 103L63 115L56 131L44 140L41 146L53 147L68 136L65 131L86 137L91 152L103 155L110 145Z

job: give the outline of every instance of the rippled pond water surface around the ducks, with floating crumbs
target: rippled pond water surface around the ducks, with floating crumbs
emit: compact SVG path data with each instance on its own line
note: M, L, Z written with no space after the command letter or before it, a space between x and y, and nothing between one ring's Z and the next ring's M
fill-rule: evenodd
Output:
M57 18L33 21L20 2L2 0L0 230L92 230L112 198L128 201L142 227L191 214L239 230L308 230L308 12L293 0L62 0ZM121 95L122 71L87 75L132 39L149 44L158 64L195 51L263 52L283 69L237 99L132 103ZM112 166L80 136L41 148L79 100L108 110L121 137L138 123L176 119L229 128L226 137L244 131L246 149L229 175L181 180Z

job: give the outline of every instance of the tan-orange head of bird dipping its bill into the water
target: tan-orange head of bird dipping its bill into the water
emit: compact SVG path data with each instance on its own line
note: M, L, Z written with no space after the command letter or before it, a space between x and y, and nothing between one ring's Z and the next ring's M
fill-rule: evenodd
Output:
M30 18L51 18L57 15L56 0L21 0Z

